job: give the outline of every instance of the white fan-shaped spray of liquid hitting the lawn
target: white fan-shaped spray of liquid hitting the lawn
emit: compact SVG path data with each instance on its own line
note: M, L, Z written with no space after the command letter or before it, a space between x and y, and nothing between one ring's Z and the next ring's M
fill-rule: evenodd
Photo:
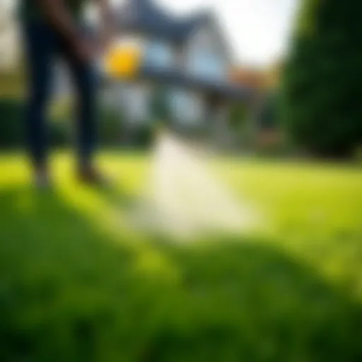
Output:
M208 167L207 153L165 130L158 134L138 222L175 236L245 233L257 218Z

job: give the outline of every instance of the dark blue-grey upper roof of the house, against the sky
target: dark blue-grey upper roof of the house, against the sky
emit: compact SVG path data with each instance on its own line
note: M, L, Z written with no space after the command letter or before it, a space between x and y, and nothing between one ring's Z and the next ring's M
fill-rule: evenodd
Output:
M160 8L153 0L127 0L119 6L116 16L120 30L140 31L182 42L193 30L209 21L211 14L201 12L180 18Z

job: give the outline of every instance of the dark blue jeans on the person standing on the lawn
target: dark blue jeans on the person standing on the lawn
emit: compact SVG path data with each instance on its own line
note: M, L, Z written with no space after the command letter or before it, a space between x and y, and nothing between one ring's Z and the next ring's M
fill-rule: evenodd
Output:
M24 21L23 40L28 70L25 130L33 164L43 167L47 162L47 108L52 93L54 65L61 58L69 68L76 91L79 163L89 165L96 138L97 86L93 64L78 59L63 37L42 21Z

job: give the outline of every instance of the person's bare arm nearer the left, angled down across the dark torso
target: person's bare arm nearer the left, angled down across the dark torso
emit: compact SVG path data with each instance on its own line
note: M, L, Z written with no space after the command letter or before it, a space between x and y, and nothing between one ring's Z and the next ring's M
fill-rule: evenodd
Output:
M74 49L78 57L88 59L91 57L91 47L87 45L76 23L71 16L64 0L34 0L38 1L45 20L64 37L66 42Z

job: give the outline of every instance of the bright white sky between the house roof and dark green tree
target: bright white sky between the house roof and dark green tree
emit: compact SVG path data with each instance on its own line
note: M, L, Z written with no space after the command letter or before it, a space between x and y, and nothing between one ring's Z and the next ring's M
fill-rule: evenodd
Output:
M111 0L120 3L124 0ZM269 66L288 50L300 0L153 0L180 15L211 9L218 16L235 62ZM0 0L14 4L14 0Z

